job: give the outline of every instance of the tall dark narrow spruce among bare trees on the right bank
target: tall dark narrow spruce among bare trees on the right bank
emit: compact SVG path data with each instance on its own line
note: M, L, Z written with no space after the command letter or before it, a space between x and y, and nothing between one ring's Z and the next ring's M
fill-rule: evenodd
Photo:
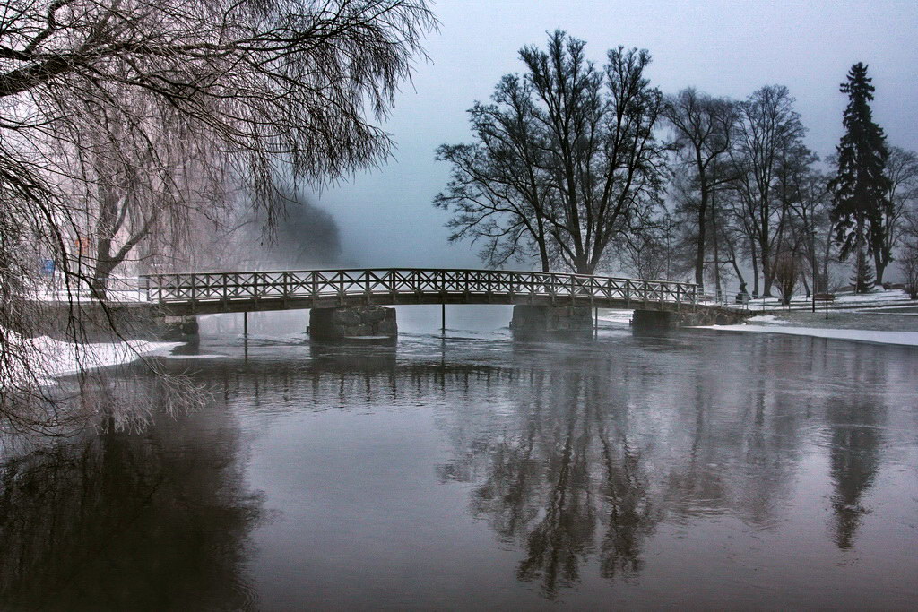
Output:
M839 256L845 260L851 252L856 254L858 293L868 291L873 283L865 251L875 253L883 248L875 228L890 188L883 173L889 157L886 136L873 122L870 111L875 89L871 81L867 66L857 62L848 71L847 83L841 84L841 92L848 95L842 119L845 135L836 147L838 169L829 183L835 240L841 245Z

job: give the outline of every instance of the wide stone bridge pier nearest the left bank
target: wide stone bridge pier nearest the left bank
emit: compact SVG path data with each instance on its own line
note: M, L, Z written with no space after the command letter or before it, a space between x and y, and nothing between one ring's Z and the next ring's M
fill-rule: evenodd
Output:
M395 308L338 306L309 311L309 338L331 342L376 340L394 342L398 336Z

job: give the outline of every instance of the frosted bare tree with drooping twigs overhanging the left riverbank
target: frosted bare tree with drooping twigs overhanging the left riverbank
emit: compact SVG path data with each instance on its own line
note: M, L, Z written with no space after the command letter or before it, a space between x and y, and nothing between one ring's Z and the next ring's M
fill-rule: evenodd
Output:
M35 254L57 262L68 291L92 284L104 298L111 268L153 228L181 226L183 207L207 209L238 187L270 225L280 184L333 180L386 157L375 121L435 25L425 0L7 2L6 414L15 387L39 387L25 340ZM88 275L77 261L87 254L73 248L87 228Z

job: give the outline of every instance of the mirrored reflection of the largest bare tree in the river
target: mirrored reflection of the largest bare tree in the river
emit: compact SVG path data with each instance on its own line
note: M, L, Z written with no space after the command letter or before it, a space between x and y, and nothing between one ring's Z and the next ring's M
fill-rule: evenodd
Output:
M479 445L487 475L472 511L521 542L518 577L548 597L576 584L592 555L608 578L638 573L642 540L660 517L643 451L609 418L605 389L596 377L537 373L520 389L522 430Z

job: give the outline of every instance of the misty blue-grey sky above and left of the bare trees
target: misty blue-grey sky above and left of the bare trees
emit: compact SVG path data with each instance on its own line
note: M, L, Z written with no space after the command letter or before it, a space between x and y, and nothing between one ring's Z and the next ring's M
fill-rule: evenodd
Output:
M821 156L842 133L838 84L864 61L877 88L874 119L891 144L918 150L916 0L441 0L434 11L442 28L427 40L431 61L419 63L384 126L397 143L394 159L319 196L354 265L480 267L476 248L447 243L448 216L431 206L449 174L434 150L470 140L465 110L487 100L503 74L521 72L518 50L544 47L554 28L586 40L600 64L618 45L649 50L651 83L665 93L694 85L743 98L787 85Z

